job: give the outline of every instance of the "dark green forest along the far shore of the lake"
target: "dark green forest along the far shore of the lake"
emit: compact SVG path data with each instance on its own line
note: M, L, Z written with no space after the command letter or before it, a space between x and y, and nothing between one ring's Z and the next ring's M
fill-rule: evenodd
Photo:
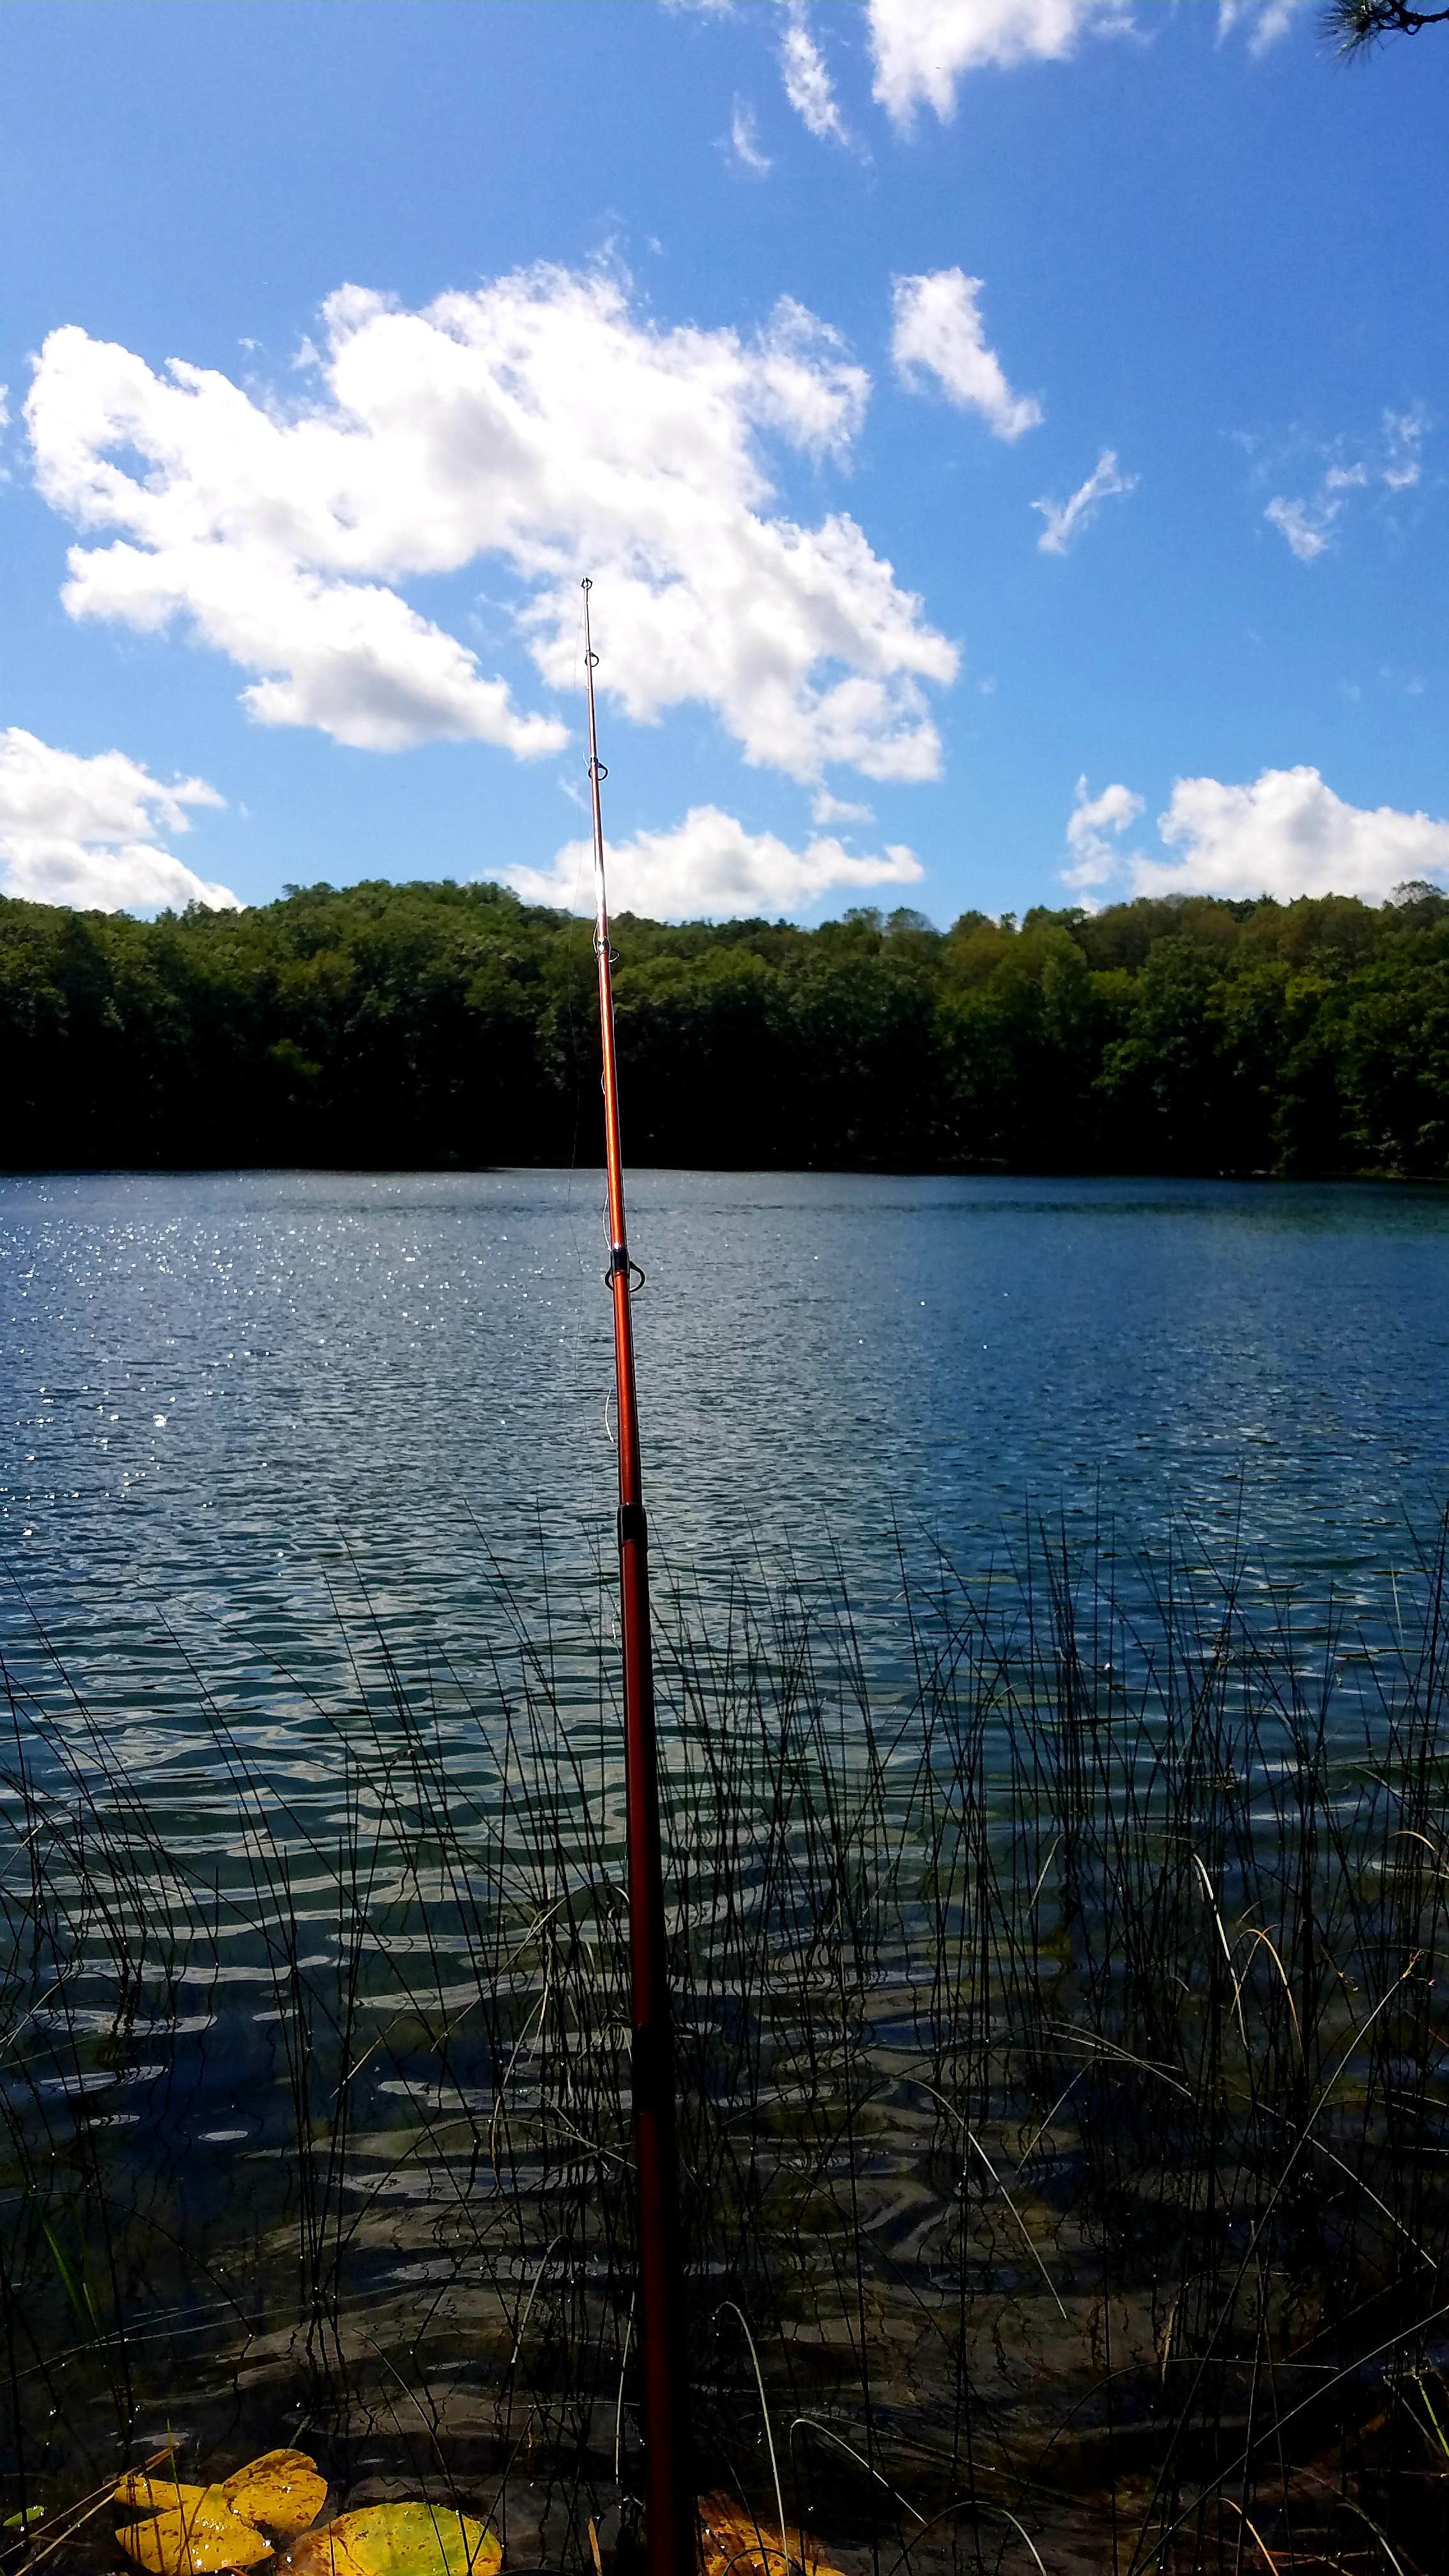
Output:
M634 1162L1449 1170L1449 896L614 922ZM8 1170L601 1154L593 925L492 884L0 899Z

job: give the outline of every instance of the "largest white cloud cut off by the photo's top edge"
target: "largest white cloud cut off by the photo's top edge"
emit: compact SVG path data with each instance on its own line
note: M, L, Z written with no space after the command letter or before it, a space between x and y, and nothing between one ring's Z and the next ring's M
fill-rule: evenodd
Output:
M918 106L946 124L967 72L1060 62L1078 36L1129 23L1124 0L869 0L874 95L897 126Z

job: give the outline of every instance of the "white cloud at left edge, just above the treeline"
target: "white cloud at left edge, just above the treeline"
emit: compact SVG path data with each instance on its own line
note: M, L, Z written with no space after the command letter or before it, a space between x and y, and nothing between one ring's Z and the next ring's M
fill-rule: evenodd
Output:
M0 732L0 871L5 894L83 912L240 909L229 886L193 876L157 832L188 832L188 806L219 806L204 778L165 786L124 752L57 752L18 724Z

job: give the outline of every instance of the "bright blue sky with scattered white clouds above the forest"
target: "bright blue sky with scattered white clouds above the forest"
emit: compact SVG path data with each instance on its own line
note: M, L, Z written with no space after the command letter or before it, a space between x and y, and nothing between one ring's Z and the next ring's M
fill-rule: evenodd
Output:
M0 881L567 902L583 569L639 909L1449 881L1446 108L1279 0L8 0Z

